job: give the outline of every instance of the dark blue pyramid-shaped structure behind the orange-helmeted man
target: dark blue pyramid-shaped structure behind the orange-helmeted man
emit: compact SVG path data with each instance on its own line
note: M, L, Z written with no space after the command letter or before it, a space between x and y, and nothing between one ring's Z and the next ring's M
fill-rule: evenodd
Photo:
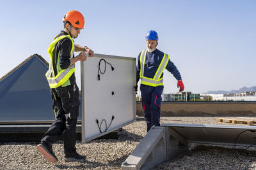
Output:
M45 62L35 54L0 81L0 124L55 119L44 75L47 69Z

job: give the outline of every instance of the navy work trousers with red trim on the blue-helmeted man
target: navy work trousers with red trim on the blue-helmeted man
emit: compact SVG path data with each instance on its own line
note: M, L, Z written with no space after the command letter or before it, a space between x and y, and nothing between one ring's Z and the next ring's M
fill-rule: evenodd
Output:
M145 112L145 121L147 123L147 131L155 126L160 126L161 101L163 93L163 85L152 87L141 85L142 107Z

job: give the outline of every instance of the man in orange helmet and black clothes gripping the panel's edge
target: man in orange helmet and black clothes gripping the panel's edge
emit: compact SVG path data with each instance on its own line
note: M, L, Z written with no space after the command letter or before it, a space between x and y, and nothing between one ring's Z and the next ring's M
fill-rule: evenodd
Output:
M65 160L68 162L84 159L76 152L76 124L79 115L79 89L76 85L75 62L93 57L93 51L87 46L75 45L84 28L84 17L79 11L68 11L63 18L64 30L58 34L48 48L49 70L45 74L51 88L52 108L55 122L44 134L41 143L36 146L49 162L56 163L57 157L52 144L63 134ZM81 52L74 57L74 52Z

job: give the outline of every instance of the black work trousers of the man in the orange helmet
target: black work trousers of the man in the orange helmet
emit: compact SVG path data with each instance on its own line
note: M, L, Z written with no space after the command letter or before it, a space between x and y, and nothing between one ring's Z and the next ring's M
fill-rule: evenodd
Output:
M67 156L76 153L76 124L79 115L79 89L77 85L51 89L52 108L56 120L41 139L52 147L52 143L64 132L64 153Z

